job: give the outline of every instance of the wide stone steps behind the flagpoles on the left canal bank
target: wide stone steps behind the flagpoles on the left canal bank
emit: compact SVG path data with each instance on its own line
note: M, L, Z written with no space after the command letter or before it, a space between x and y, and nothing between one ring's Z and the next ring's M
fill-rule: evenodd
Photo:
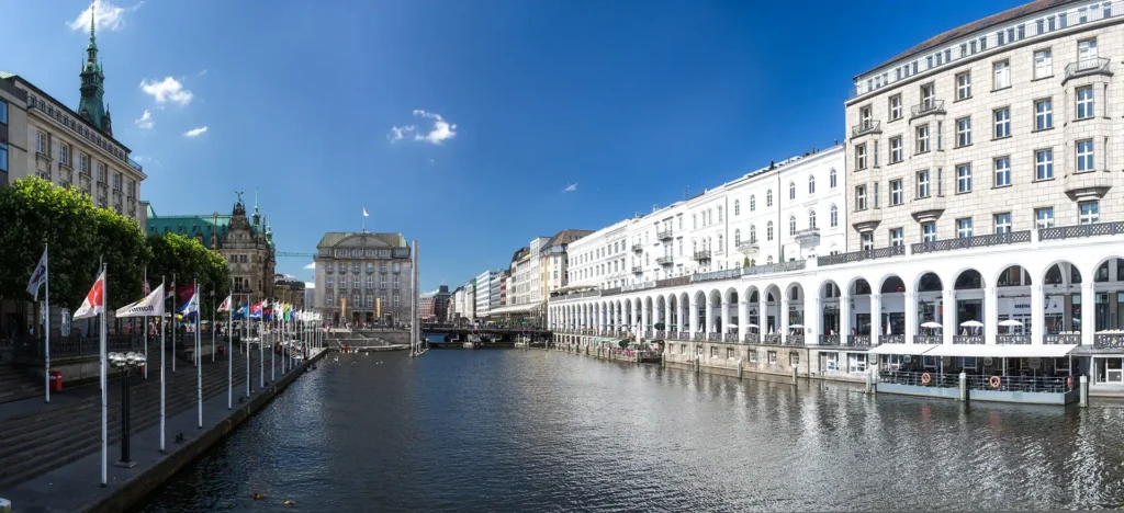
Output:
M265 355L269 367L269 354ZM203 358L203 397L209 399L227 391L227 360L220 357L214 364ZM257 352L251 360L251 376L257 378L260 363ZM280 366L280 365L279 365ZM165 414L175 415L196 406L196 369L180 366L176 373L166 370ZM245 394L246 359L234 354L234 392ZM266 377L269 369L266 368ZM133 377L133 432L143 431L160 423L160 367L158 361L148 369L148 381ZM239 386L239 383L242 384ZM253 383L257 388L256 381ZM109 384L108 433L110 443L120 440L120 381L111 375ZM78 404L44 404L29 414L0 420L3 437L0 437L0 492L18 483L34 478L47 470L74 461L101 448L101 395L97 384L84 385L83 397ZM42 391L38 391L42 393ZM237 399L235 400L237 401ZM167 433L167 443L173 443L175 433ZM114 456L111 455L112 459Z

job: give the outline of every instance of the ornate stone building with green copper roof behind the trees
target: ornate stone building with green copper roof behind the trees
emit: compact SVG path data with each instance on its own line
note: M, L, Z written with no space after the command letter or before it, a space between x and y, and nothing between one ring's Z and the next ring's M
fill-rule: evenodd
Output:
M218 212L201 216L157 216L148 205L147 232L179 233L191 237L203 246L219 251L226 258L234 278L235 294L252 294L259 299L277 299L274 278L277 248L273 230L254 205L254 213L246 217L242 193L227 216Z

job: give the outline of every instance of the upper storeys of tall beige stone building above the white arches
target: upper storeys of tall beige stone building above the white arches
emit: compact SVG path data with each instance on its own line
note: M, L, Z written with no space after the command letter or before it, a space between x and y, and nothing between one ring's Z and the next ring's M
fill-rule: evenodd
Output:
M1122 11L1035 1L858 75L849 250L1124 218Z

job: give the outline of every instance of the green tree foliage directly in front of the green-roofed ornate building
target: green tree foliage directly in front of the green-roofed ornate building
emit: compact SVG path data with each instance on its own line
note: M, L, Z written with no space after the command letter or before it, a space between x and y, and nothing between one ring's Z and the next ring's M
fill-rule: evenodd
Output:
M206 313L218 308L230 291L230 271L226 259L196 239L171 232L148 236L148 247L152 250L148 281L156 283L164 276L171 284L173 274L178 286L198 281L203 318L209 318ZM212 290L214 296L210 295Z

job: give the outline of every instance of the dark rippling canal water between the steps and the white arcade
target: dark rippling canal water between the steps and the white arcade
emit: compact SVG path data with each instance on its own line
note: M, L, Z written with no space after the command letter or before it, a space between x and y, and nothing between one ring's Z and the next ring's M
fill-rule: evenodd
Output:
M335 358L139 511L1124 505L1114 405L964 406L542 349Z

